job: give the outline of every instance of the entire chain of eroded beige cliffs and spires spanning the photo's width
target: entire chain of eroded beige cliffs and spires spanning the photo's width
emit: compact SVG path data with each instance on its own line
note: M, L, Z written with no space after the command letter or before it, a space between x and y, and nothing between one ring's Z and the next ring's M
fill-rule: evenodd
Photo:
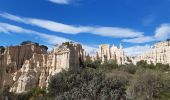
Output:
M102 44L96 56L86 55L80 44L66 42L47 52L45 46L27 43L7 48L0 47L0 95L2 87L9 86L11 92L22 93L34 87L46 88L51 76L63 69L76 69L84 61L100 59L102 63L109 60L117 64L126 64L128 57L123 47ZM170 41L155 44L151 51L133 57L132 62L145 60L148 63L170 64Z

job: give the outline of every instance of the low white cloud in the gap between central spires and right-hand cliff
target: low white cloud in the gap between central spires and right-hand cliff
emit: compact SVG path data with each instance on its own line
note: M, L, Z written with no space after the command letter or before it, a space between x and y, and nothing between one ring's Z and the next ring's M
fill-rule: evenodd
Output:
M128 56L138 56L141 55L151 49L150 45L144 45L144 46L132 46L125 48L125 54Z

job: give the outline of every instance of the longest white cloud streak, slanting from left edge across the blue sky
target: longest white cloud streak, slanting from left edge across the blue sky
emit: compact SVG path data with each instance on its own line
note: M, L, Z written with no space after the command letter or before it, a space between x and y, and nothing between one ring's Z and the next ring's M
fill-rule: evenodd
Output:
M80 26L80 25L67 25L59 22L43 20L43 19L34 19L34 18L24 18L8 13L0 14L1 17L7 18L13 21L38 26L50 31L61 32L65 34L79 34L79 33L91 33L99 36L107 37L141 37L143 32L138 32L129 28L120 28L120 27L103 27L103 26Z

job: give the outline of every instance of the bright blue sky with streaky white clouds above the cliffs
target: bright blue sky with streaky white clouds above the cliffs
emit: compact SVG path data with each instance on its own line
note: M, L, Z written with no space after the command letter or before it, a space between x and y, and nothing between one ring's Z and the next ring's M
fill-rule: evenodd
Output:
M121 43L134 56L168 38L170 0L0 0L2 46L73 41L93 54Z

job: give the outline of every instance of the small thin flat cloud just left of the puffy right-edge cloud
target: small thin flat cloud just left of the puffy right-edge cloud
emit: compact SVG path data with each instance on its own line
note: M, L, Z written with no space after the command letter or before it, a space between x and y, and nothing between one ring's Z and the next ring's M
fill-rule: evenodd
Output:
M127 43L147 43L147 42L152 42L155 41L154 37L151 36L143 36L139 38L132 38L132 39L123 39L122 42L127 42Z

